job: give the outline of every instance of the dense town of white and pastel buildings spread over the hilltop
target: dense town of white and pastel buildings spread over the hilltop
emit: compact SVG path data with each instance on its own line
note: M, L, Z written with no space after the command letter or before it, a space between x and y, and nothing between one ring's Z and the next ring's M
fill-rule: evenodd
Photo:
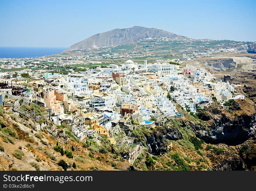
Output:
M230 100L244 99L235 90L240 83L230 76L216 78L204 68L181 66L180 59L136 63L130 58L101 65L74 57L43 57L1 59L1 63L2 106L35 119L36 111L26 114L26 105L33 102L45 108L46 119L82 142L89 137L97 142L103 135L113 144L132 143L131 137L114 137L112 132L118 126L154 127L160 121L183 118L182 111L195 116L213 101L228 107ZM54 130L48 131L54 135Z

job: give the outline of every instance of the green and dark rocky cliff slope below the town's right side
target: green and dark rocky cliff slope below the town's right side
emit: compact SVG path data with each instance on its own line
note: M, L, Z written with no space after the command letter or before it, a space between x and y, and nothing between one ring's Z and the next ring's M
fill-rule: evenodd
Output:
M255 107L247 100L218 102L185 119L131 133L147 147L134 166L149 170L256 170ZM126 131L129 131L126 129Z

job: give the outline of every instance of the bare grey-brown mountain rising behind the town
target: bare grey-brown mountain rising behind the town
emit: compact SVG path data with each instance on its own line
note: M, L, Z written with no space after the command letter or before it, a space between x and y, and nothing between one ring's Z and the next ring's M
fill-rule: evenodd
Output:
M127 43L134 43L140 39L160 36L171 39L191 39L185 36L180 36L168 31L155 28L146 28L141 26L134 26L126 29L114 29L104 33L95 34L81 42L78 42L65 51L93 49L103 46L123 45Z

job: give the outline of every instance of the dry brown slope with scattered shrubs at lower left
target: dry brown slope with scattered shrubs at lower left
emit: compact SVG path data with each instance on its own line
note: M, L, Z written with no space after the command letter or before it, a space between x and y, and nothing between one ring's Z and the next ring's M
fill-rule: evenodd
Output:
M26 106L29 107L29 106ZM5 108L8 109L8 108ZM104 137L83 143L45 118L28 119L0 107L0 170L127 170L129 148ZM37 112L43 112L37 107ZM109 152L111 151L111 152Z

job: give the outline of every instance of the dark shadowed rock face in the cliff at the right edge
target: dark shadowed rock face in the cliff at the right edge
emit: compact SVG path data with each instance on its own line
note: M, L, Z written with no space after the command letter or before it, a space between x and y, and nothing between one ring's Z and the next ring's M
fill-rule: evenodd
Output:
M241 107L234 102L231 106L233 110L241 110ZM207 116L208 115L208 116ZM195 135L205 142L218 144L225 143L228 145L238 145L255 136L256 132L256 115L241 114L230 119L222 113L220 107L210 108L204 115L210 121L210 126L191 124Z

